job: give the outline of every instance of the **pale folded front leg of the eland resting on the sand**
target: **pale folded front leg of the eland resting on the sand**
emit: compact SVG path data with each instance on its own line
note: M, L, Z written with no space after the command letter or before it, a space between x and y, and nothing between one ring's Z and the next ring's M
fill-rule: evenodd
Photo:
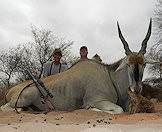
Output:
M95 110L95 111L104 111L104 112L107 112L107 113L110 113L110 114L121 114L123 113L123 109L110 102L110 101L99 101L99 102L96 102L94 104L94 107L95 108L92 108L92 110Z

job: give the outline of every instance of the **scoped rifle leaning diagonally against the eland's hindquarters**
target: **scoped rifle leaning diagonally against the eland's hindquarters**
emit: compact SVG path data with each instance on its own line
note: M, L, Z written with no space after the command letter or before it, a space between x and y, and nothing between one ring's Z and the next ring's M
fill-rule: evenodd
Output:
M41 81L41 79L35 77L30 70L26 70L27 74L31 77L31 79L33 80L33 82L35 83L35 86L37 87L38 91L41 94L41 98L43 99L41 102L43 104L45 104L45 109L46 112L49 112L51 110L54 110L55 107L52 104L51 99L53 98L53 95L49 92L49 90L46 88L46 86L44 85L44 83Z

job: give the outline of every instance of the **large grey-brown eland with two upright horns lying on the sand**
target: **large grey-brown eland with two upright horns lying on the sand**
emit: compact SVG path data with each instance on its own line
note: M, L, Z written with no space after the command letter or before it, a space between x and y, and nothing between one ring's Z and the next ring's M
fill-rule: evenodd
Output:
M144 54L151 35L151 25L152 20L139 52L130 50L117 22L119 38L123 43L126 57L114 64L103 64L90 59L81 60L65 72L43 78L44 85L53 95L52 104L55 110L91 108L111 114L127 111L128 88L131 91L141 91L145 68ZM34 84L26 87L29 83L31 81L11 88L6 95L7 103L1 106L1 110L14 110L17 99L16 107L45 110L38 89Z

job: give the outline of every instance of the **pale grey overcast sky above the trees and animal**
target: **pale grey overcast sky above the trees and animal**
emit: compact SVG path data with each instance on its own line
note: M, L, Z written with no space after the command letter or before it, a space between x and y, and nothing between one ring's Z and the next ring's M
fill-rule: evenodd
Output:
M0 0L0 48L31 40L30 25L43 27L73 40L76 55L81 45L89 57L101 55L104 62L124 56L116 21L130 48L138 51L144 39L156 0ZM148 45L152 45L151 37Z

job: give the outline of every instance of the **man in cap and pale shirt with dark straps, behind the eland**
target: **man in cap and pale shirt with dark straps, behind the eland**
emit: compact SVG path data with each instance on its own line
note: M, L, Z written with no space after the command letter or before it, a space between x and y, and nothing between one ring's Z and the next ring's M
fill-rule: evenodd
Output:
M68 69L67 64L65 63L63 64L60 62L62 57L62 52L59 48L56 48L52 55L53 55L53 60L47 62L44 65L44 69L43 69L44 77L54 75L56 73L60 73Z

